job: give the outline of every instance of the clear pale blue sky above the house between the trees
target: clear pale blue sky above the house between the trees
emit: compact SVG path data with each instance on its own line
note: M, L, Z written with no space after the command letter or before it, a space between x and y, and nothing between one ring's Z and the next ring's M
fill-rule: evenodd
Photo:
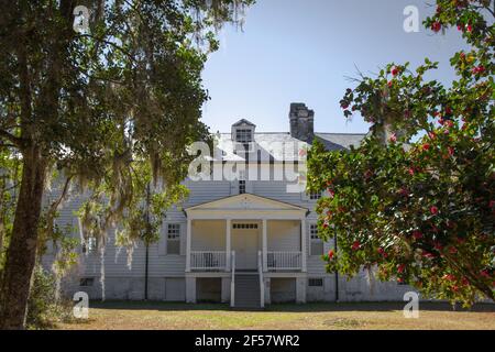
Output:
M387 63L425 57L440 63L429 78L454 78L449 59L464 42L457 29L433 34L422 20L433 0L257 0L248 9L243 31L228 25L220 50L210 55L204 85L210 100L202 121L211 132L229 132L240 119L257 132L289 131L290 102L315 110L317 132L362 133L369 124L343 118L339 101L358 69L375 75ZM419 32L406 33L404 9L419 10Z

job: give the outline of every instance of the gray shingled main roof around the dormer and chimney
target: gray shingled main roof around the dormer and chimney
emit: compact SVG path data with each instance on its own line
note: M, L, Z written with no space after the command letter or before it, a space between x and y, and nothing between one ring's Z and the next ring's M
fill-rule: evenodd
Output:
M315 133L315 135L329 151L348 150L351 145L358 146L365 136L365 134L348 133ZM290 136L288 132L254 133L255 144L253 150L245 156L243 153L233 153L233 143L230 133L220 133L217 134L217 138L218 150L216 153L217 157L213 161L242 162L246 158L254 161L258 156L261 162L297 161L299 150L309 147L307 143ZM284 144L294 145L294 148L287 148L285 151L285 155L283 150Z

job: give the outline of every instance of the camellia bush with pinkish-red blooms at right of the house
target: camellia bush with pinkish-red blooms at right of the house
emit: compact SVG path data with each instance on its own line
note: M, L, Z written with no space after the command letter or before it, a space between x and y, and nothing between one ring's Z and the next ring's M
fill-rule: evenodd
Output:
M425 25L462 32L449 87L389 64L348 89L345 118L372 123L356 148L309 153L309 189L320 199L319 233L338 239L329 272L363 267L425 296L471 306L495 300L494 1L437 1Z

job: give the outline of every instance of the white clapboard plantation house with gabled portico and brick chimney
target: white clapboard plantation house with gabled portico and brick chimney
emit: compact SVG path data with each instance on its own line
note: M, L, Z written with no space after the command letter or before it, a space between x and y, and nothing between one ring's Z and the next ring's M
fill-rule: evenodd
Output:
M218 134L207 164L211 173L185 180L189 198L167 212L160 241L148 249L139 245L130 266L125 250L114 245L114 233L109 233L103 257L88 241L64 289L86 292L94 299L253 308L286 301L403 300L408 286L377 282L367 272L351 280L326 272L321 255L333 243L318 237L315 207L321 195L299 191L301 151L315 139L329 150L345 150L364 135L316 133L314 118L304 103L293 103L290 133L260 133L241 120L231 133ZM74 211L80 198L73 197L61 211L62 222L77 227ZM45 255L46 266L52 261L53 253Z

